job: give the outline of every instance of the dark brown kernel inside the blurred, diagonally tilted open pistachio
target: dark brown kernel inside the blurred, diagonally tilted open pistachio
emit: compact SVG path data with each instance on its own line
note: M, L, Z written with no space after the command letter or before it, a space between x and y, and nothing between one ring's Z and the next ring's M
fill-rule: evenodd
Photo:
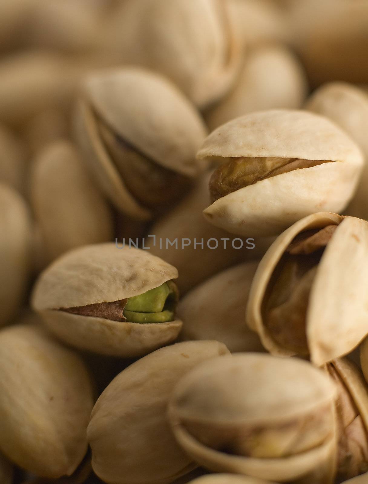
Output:
M190 179L158 165L103 121L97 119L101 139L127 189L148 208L164 206L184 195Z

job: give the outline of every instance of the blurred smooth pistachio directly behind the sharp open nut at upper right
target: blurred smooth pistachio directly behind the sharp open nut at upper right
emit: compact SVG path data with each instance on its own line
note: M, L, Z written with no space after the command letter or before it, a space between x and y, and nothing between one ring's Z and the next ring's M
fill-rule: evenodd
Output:
M307 95L301 63L283 45L257 45L247 55L230 93L206 113L210 130L253 111L297 109Z

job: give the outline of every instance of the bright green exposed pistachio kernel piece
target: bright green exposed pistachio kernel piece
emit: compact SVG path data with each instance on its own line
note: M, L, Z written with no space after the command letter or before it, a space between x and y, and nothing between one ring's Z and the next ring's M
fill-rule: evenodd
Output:
M178 290L172 281L133 296L125 304L123 315L132 323L166 323L174 320Z

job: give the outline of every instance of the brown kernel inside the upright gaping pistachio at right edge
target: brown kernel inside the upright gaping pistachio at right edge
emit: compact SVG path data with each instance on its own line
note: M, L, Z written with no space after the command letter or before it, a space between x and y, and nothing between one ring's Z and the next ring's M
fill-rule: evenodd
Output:
M306 334L309 294L323 250L337 226L298 234L281 257L264 297L264 326L276 343L308 355Z

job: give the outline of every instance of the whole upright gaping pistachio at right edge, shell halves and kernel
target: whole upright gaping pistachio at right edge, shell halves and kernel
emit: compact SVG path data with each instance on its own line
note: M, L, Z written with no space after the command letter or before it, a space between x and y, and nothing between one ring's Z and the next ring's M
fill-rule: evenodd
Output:
M322 365L367 335L368 223L334 213L296 222L271 245L250 289L246 319L277 356Z

